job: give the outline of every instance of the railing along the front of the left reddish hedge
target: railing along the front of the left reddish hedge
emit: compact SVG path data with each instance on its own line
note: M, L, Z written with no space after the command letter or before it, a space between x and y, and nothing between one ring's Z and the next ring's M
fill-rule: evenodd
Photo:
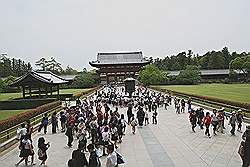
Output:
M61 106L61 105L56 106L56 107L54 107L54 108L52 108L52 109L50 109L50 110L47 110L47 111L45 111L44 113L48 113L48 116L50 116L53 112L58 112L58 111L60 111L60 110L62 110L62 106ZM37 116L35 116L35 117L33 117L33 118L30 118L29 120L30 120L30 122L31 122L31 125L32 125L32 126L38 125L38 124L41 122L42 117L44 116L44 113L42 113L42 114L40 114L40 115L37 115ZM22 122L22 123L23 123L23 122ZM6 130L0 132L0 146L1 146L4 142L6 142L6 141L8 141L9 139L11 139L11 138L13 138L13 137L16 136L17 129L21 126L22 123L17 124L17 125L15 125L15 126L12 126L12 127L8 128L8 129L6 129ZM34 130L36 130L36 127L33 128L33 131L34 131Z

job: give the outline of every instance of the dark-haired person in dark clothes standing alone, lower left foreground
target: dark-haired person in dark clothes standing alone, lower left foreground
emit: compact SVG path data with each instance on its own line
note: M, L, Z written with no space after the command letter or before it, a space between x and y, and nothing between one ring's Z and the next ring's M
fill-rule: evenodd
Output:
M48 158L47 156L47 149L50 147L49 142L45 144L45 139L43 137L40 137L38 139L38 159L41 160L41 166L45 166L45 162Z

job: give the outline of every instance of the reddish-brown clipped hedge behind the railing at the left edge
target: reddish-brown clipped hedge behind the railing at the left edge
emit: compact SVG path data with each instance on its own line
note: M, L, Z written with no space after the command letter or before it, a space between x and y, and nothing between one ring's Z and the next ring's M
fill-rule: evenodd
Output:
M52 108L55 108L59 105L62 105L61 101L55 101L52 103L44 104L42 106L39 106L35 109L27 110L27 112L17 114L13 117L10 117L8 119L0 121L0 131L4 131L8 128L11 128L17 124L20 124L22 122L25 122L26 120L29 120L37 115L40 115Z

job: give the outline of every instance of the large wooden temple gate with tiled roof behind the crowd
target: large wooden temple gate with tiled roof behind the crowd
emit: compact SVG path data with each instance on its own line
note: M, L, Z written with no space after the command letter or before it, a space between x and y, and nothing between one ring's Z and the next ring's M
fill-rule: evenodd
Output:
M149 63L142 52L98 53L97 60L89 62L98 68L101 84L122 82L127 77L137 78L141 67Z

